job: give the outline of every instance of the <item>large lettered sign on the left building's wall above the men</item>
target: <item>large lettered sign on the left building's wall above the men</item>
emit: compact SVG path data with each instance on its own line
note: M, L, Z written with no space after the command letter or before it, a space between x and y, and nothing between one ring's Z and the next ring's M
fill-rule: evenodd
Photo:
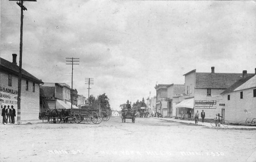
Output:
M0 86L0 105L18 105L18 91Z

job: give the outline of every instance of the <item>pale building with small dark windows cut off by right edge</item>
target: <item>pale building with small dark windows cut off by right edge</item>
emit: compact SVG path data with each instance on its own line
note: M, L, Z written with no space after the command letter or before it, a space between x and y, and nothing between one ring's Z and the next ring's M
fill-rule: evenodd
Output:
M256 118L256 75L243 77L222 95L224 116L230 123L245 124L247 118Z

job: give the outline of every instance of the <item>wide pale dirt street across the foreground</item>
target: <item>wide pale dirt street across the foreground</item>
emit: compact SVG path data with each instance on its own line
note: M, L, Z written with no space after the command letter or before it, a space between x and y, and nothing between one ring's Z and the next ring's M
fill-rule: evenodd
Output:
M120 117L92 124L0 125L0 161L253 161L256 130Z

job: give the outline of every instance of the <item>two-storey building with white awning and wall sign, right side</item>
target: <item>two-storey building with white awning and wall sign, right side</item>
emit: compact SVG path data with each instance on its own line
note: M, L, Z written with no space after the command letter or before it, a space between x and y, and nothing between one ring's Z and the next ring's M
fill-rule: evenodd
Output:
M182 110L183 117L191 119L198 110L205 111L206 119L212 119L217 113L225 116L221 93L236 81L243 73L197 73L189 71L185 76L185 93L188 94L181 103L176 105L177 111Z

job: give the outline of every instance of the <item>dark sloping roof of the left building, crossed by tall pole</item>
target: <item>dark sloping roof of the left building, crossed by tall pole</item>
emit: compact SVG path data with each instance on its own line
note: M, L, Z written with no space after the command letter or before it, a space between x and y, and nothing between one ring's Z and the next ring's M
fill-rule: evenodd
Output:
M4 69L7 71L10 71L11 73L14 73L15 75L19 75L19 66L7 61L6 59L3 59L0 57L0 69ZM29 79L36 83L44 83L41 80L37 79L30 73L28 73L26 70L21 69L22 78Z

